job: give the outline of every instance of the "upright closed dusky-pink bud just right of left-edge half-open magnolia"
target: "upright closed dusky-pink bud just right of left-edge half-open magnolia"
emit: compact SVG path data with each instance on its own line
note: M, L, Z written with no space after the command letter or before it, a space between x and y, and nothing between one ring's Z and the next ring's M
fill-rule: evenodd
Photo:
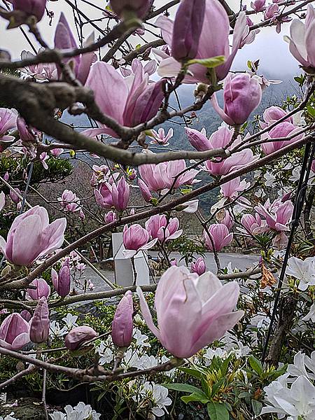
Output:
M31 342L43 343L47 341L49 335L49 309L45 297L39 300L33 318L29 323L29 338Z

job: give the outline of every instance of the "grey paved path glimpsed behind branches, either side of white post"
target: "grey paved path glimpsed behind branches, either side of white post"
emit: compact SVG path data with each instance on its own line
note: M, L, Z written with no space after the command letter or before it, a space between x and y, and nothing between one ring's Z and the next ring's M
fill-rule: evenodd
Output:
M157 255L156 252L150 253L153 257ZM221 262L221 267L226 267L230 262L232 265L232 269L237 267L238 269L241 269L241 271L245 271L248 268L251 268L255 266L258 263L259 256L254 254L239 254L239 253L219 253L219 258ZM177 258L179 260L181 258L181 255L179 253L172 253L171 259ZM206 254L206 263L207 263L207 269L212 272L216 272L216 263L214 262L214 255L212 253ZM184 262L181 262L181 264L184 264ZM112 271L100 270L104 276L106 276L107 279L114 282L115 276ZM93 272L90 267L87 267L85 269L85 276L87 279L90 279L92 283L94 283L94 292L98 291L104 291L104 290L110 290L110 287L104 282L103 279L101 279L97 274Z

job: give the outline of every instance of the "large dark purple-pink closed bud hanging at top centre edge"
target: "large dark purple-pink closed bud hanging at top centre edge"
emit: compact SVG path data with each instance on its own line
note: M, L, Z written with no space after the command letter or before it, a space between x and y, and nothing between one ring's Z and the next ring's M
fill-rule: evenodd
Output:
M172 57L195 58L204 22L205 0L181 0L174 20Z

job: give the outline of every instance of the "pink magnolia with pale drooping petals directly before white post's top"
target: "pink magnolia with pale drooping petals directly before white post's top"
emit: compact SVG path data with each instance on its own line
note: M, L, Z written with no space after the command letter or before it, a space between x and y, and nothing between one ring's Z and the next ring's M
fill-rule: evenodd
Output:
M158 241L156 238L152 241L149 241L149 239L150 232L142 228L141 225L137 223L130 227L125 225L123 229L123 244L125 246L123 254L125 258L132 258L138 251L152 248Z

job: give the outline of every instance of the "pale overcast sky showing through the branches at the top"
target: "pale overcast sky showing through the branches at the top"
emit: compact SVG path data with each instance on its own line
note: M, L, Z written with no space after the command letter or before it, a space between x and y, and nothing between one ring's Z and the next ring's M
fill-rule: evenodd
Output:
M75 2L75 0L71 1L73 3ZM104 7L104 0L90 1L97 6ZM1 3L2 0L0 0L0 4ZM77 0L77 3L80 10L90 18L97 19L102 17L101 11L88 6L82 0ZM230 0L228 3L234 10L238 10L238 2L236 0ZM249 3L249 1L246 1L248 8L250 8ZM55 18L51 27L48 25L49 20L47 17L43 18L39 27L45 40L49 43L49 45L52 45L55 25L57 25L57 20L59 19L61 11L65 13L66 18L68 18L69 22L71 22L71 26L74 26L73 15L71 7L68 6L64 0L48 1L47 4L48 9L55 13ZM160 7L163 4L165 4L165 0L155 0L155 5L157 7ZM176 8L173 8L173 10L176 10ZM154 22L154 20L152 22ZM102 25L104 25L102 22L97 22L97 24L101 28ZM23 49L30 50L29 45L20 29L10 29L10 31L7 31L5 29L6 25L7 22L0 18L0 48L9 50L13 58L19 58L20 52ZM256 36L254 43L251 45L245 45L244 48L237 52L233 68L239 70L245 69L248 59L255 60L260 58L260 71L267 74L270 78L285 78L298 73L299 69L297 62L290 55L290 52L288 52L288 44L283 41L283 36L288 34L288 27L288 24L282 25L281 34L276 34L275 27L262 28L260 34ZM90 33L90 31L92 31L90 25L86 25L85 31L86 35L87 32ZM99 34L97 34L97 36L98 35ZM31 34L29 36L31 37ZM134 45L136 45L137 42L136 38L134 38Z

